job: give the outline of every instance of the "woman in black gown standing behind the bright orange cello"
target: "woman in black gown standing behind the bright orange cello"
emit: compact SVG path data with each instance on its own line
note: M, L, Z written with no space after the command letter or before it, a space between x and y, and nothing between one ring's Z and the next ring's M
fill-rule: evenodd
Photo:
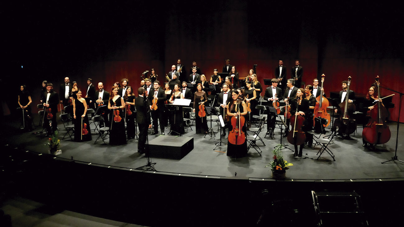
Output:
M247 105L244 101L238 100L239 99L239 94L236 90L233 90L231 92L231 98L232 101L229 103L229 108L227 108L227 116L230 117L230 122L231 118L237 117L238 112L240 113L240 116L245 116L247 114ZM246 132L246 126L245 124L240 126L241 130ZM230 133L232 133L233 127L230 124L229 128L229 136ZM244 141L242 144L232 144L230 141L227 141L227 156L233 156L234 158L240 158L244 157L247 155L247 140Z

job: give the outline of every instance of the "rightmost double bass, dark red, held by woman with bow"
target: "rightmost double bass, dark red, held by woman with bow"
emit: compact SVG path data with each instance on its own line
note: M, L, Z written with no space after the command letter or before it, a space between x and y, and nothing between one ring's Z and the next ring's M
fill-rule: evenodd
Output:
M381 96L379 76L376 76L375 80L379 98ZM383 103L381 103L381 99L379 99L373 107L373 109L368 110L366 113L366 116L370 116L370 119L368 124L363 128L362 137L370 144L387 143L391 137L389 126L386 124L387 109L384 107Z

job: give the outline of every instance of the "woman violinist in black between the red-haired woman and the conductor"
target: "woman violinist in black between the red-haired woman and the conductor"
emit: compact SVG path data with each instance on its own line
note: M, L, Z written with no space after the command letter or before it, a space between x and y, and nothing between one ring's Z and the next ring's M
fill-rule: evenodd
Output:
M133 95L131 86L128 86L128 88L126 88L124 101L125 101L126 134L128 139L135 139L136 136L135 95Z

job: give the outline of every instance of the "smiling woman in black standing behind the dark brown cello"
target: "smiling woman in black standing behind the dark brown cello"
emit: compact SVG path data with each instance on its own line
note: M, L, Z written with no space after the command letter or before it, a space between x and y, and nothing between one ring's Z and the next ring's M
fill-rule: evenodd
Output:
M303 132L307 132L307 117L309 116L309 101L303 98L304 89L299 88L296 92L296 98L290 100L290 115L303 116L305 118L302 130ZM297 109L297 111L296 111ZM290 124L294 124L295 122L290 122ZM293 133L290 131L289 133ZM306 133L307 134L307 133ZM302 156L304 143L299 147L299 154L297 153L297 145L295 145L295 157Z

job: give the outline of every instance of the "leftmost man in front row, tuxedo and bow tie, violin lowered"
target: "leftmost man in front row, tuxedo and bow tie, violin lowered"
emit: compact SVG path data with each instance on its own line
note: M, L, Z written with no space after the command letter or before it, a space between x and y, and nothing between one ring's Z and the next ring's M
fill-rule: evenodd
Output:
M59 97L57 93L53 90L53 84L52 83L46 84L46 92L44 92L44 100L42 100L42 105L46 107L45 109L46 112L50 108L50 113L52 114L52 117L50 119L48 119L49 114L44 118L44 124L48 136L53 135L53 132L57 130L56 113L58 103L59 103Z

